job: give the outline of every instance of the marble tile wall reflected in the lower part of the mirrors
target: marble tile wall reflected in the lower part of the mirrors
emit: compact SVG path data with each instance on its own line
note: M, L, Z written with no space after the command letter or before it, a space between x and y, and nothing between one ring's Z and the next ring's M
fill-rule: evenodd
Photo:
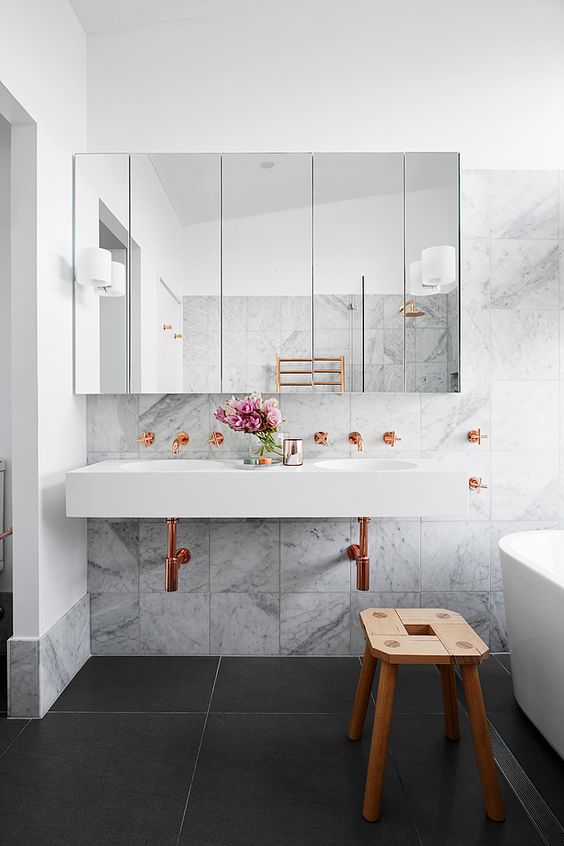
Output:
M366 390L403 390L404 344L408 390L446 391L449 371L455 371L457 378L459 321L456 295L421 298L417 305L424 314L407 321L404 337L403 297L366 294ZM315 355L343 355L346 390L362 390L359 295L317 294L313 319ZM299 359L312 354L311 326L310 297L224 297L224 390L240 391L246 385L253 385L258 391L274 390L277 356ZM218 297L184 297L183 327L184 390L213 392L219 385L221 356ZM307 380L298 376L287 381ZM320 387L317 390L327 393L337 392L338 388ZM284 393L300 392L303 393L300 388L284 388Z

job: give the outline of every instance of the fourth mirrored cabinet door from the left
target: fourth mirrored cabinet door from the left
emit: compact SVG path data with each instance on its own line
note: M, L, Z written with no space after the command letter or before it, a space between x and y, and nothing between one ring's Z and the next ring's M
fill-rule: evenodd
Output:
M402 391L403 154L316 153L313 176L315 357L347 391Z

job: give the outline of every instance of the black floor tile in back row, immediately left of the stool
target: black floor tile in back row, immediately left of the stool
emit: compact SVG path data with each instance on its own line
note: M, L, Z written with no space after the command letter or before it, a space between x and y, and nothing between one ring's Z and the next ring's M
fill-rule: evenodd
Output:
M358 658L222 658L211 710L348 712L359 673Z

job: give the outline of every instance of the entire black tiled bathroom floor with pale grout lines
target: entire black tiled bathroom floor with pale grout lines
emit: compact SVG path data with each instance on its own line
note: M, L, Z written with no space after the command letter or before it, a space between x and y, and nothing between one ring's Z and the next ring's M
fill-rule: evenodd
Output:
M355 658L91 658L43 720L0 719L2 846L536 846L502 779L484 814L470 728L443 737L439 675L401 667L383 815L370 740L346 740ZM481 668L490 719L564 823L564 762ZM0 708L2 705L0 704ZM5 706L4 706L5 707ZM370 715L369 715L370 719Z

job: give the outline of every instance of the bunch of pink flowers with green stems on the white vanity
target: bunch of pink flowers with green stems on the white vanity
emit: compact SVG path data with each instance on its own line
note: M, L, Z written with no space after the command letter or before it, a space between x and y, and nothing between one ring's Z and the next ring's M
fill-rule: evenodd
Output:
M259 455L264 455L265 452L282 455L282 447L274 438L282 423L277 399L271 397L263 400L262 395L258 393L249 394L243 399L231 397L216 408L213 416L234 432L256 435L260 441L257 450Z

